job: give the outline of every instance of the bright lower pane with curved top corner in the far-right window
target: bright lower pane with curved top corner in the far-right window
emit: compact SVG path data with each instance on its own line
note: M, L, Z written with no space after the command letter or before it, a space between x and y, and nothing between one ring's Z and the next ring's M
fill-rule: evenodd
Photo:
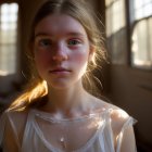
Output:
M152 67L152 18L140 21L132 33L132 65Z

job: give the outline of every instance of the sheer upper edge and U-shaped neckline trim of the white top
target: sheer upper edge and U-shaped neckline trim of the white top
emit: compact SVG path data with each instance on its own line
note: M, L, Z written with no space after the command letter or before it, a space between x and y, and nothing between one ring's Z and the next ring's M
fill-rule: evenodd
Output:
M94 131L94 134L92 135L92 137L90 138L90 139L88 139L88 141L86 142L86 143L84 143L81 147L79 147L78 149L75 149L75 150L73 150L73 152L81 152L81 151L86 151L86 150L88 150L92 144L93 144L93 142L96 141L96 139L98 138L98 135L99 135L99 132L101 131L103 131L103 129L104 129L104 127L105 127L105 123L106 123L106 118L105 118L105 113L107 114L107 110L105 110L105 111L102 111L102 112L100 112L100 113L92 113L92 114L89 114L89 115L84 115L84 116L81 116L81 117L78 117L78 118L64 118L64 119L58 119L58 122L56 122L56 118L53 118L53 117L49 117L49 119L48 121L51 121L51 122L54 122L54 123L71 123L71 122L76 122L76 121L84 121L84 119L88 119L88 118L93 118L94 116L100 116L100 117L102 117L102 114L103 114L103 122L102 122L102 125L100 125L100 127L98 127L97 128L97 130ZM35 115L38 115L38 116L41 116L41 114L45 114L45 116L46 117L42 117L42 118L48 118L48 116L51 116L51 114L50 113L48 113L48 112L43 112L43 111L39 111L39 110L37 110L37 109L33 109L31 110L31 113L34 113ZM34 115L33 115L34 116ZM37 132L37 135L39 136L39 138L40 138L40 140L41 141L43 141L43 144L46 144L46 147L48 148L48 150L51 150L52 152L64 152L63 150L61 150L61 149L59 149L59 148L56 148L56 147L54 147L54 145L52 145L46 138L45 138L45 136L43 136L43 132L42 132L42 130L39 128L39 126L38 126L38 124L37 124L37 122L36 122L36 119L34 118L33 119L34 122L34 128L35 128L35 130L36 130L36 132Z

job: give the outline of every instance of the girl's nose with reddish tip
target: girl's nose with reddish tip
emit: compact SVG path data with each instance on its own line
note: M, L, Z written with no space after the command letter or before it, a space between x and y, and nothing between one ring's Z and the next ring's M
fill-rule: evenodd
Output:
M67 50L64 45L56 45L52 56L53 61L62 62L68 59Z

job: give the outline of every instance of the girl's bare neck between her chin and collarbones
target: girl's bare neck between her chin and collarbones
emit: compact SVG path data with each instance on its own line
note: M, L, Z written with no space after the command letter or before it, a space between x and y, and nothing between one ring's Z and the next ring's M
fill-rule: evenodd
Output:
M73 113L85 109L85 104L89 94L83 88L83 85L73 86L66 89L49 88L49 102L46 110L53 113Z

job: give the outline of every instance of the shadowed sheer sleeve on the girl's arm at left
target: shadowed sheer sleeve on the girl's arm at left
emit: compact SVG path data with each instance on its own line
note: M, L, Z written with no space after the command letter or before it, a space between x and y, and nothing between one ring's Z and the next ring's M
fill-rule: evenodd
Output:
M0 117L0 147L3 152L17 152L20 150L18 136L11 114L11 112L5 111Z

